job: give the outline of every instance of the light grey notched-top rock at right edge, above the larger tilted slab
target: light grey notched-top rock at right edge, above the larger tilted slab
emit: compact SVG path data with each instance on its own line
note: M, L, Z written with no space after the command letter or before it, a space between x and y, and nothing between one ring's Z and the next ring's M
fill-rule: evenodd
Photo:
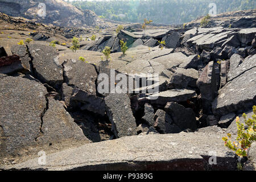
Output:
M237 54L230 58L230 69L228 73L228 81L240 76L242 73L256 67L256 54L243 58Z

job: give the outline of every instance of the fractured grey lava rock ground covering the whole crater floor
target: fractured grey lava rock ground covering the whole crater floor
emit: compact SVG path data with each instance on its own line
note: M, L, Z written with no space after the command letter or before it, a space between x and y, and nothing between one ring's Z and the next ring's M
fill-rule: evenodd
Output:
M256 28L247 21L146 31L131 24L116 34L116 27L61 28L0 14L0 168L236 170L221 138L235 135L236 116L251 117L256 105ZM81 37L77 52L69 49L73 36ZM152 82L128 94L100 93L98 75L111 69ZM217 164L210 165L212 152ZM255 170L254 146L248 159L244 169Z

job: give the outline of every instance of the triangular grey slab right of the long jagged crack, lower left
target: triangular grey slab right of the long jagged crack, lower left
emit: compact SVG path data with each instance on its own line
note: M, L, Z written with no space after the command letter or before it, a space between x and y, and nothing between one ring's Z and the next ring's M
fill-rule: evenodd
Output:
M43 134L37 138L39 143L56 144L65 140L87 140L89 143L80 127L59 101L53 98L48 99L48 109L42 119Z

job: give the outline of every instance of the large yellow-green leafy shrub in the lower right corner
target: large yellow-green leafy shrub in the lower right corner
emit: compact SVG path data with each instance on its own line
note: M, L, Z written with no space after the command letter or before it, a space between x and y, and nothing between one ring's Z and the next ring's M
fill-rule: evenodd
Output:
M225 146L230 150L236 152L239 156L238 158L238 169L241 169L241 159L247 156L247 152L251 146L251 143L256 140L256 106L253 106L253 116L252 118L247 119L247 115L243 113L242 117L245 121L245 124L248 126L245 129L243 123L240 122L240 118L236 118L237 123L237 142L231 142L231 134L227 134L227 137L223 137L222 140L225 142Z

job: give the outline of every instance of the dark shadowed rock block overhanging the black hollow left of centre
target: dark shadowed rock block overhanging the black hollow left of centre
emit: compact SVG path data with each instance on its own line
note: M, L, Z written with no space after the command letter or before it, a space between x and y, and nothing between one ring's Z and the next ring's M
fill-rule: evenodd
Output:
M73 89L71 101L72 105L75 105L73 101L81 102L81 110L92 111L93 113L100 114L102 116L105 115L106 107L104 99L97 97L94 94L81 89Z

